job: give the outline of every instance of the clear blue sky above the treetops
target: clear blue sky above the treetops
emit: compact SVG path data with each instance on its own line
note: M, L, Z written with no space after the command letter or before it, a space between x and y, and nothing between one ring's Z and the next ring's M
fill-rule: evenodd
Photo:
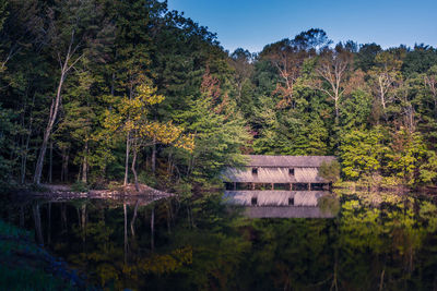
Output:
M437 47L437 0L168 0L168 9L208 26L229 51L258 52L312 27L334 43Z

